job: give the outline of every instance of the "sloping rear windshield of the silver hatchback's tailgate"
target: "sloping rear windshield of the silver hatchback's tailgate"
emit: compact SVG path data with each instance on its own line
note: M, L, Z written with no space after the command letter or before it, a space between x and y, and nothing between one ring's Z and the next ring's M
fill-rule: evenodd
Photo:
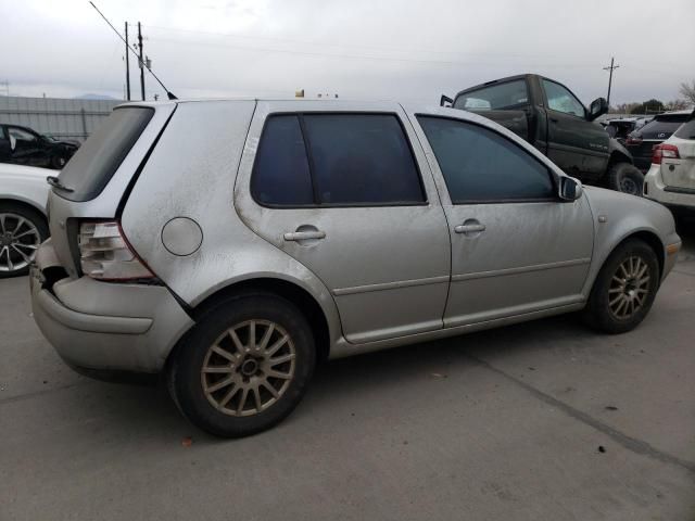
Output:
M73 191L56 193L71 201L90 201L99 195L153 115L154 109L143 106L113 111L61 171L61 183Z

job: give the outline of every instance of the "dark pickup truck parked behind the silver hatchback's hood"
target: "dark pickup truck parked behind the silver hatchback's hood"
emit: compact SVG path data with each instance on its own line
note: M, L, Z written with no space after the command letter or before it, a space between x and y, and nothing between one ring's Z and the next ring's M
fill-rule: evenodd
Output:
M595 119L608 112L604 98L590 109L564 85L536 74L486 81L440 104L472 111L507 127L547 155L567 175L642 194L644 175L632 156Z

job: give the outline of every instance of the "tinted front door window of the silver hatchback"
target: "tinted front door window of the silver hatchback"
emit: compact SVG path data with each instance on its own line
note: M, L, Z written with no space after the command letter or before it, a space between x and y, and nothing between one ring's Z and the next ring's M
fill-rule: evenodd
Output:
M507 138L455 119L419 116L418 120L453 202L554 196L547 168Z

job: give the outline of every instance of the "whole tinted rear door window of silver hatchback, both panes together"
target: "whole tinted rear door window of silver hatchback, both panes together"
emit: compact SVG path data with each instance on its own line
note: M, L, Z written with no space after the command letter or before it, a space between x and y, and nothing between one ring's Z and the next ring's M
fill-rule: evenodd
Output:
M426 201L409 143L393 114L270 116L251 193L261 204L279 206Z

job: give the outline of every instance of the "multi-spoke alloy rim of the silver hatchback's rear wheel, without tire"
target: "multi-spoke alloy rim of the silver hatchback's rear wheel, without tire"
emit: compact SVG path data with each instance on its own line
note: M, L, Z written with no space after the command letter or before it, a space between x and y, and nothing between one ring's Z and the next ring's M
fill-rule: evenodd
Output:
M247 320L207 350L201 383L207 401L229 416L253 416L285 394L294 377L296 350L288 332L269 320Z

